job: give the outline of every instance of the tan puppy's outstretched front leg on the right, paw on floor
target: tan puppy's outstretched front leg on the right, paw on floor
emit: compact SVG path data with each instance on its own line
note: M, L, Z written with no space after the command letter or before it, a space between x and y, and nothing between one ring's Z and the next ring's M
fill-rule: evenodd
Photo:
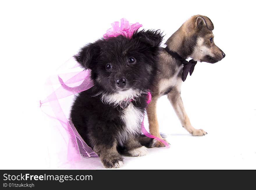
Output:
M183 105L182 99L180 97L180 92L177 91L176 88L173 88L172 91L170 93L168 93L167 97L168 97L170 103L172 104L175 113L179 117L179 120L180 120L182 126L189 133L191 133L193 136L203 136L203 135L207 134L204 130L195 129L191 125L191 123L189 121L189 117L186 114L186 111L184 109L184 105Z

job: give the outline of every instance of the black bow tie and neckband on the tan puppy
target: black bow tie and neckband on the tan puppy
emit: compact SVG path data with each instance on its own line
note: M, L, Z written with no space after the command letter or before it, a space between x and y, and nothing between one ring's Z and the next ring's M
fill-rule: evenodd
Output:
M183 70L182 70L182 81L184 82L188 76L188 74L190 74L190 76L192 75L194 68L195 68L195 64L197 63L197 61L191 59L190 61L187 61L186 59L183 59L179 54L177 54L176 52L170 50L168 47L165 48L165 50L167 51L167 53L169 53L172 57L174 57L175 59L178 59L182 62L183 64Z

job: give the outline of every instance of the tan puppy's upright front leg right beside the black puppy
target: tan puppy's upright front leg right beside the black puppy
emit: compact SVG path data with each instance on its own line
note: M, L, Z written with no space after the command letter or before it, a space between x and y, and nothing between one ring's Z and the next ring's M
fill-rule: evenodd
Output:
M149 132L160 139L163 139L159 133L159 125L157 121L157 99L158 97L153 97L151 102L147 106L147 118L149 122ZM163 139L164 140L164 139ZM162 142L156 141L155 147L164 147Z

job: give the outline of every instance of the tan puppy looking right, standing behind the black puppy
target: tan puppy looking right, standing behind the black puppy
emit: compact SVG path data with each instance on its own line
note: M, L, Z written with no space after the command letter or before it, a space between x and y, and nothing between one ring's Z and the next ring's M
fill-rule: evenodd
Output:
M182 126L189 133L193 136L207 134L204 130L195 129L191 125L180 92L183 79L182 59L185 60L191 57L195 61L216 63L225 57L223 51L214 44L213 29L213 23L208 17L195 15L183 23L166 41L166 48L161 48L158 64L159 72L151 88L152 101L147 107L149 129L152 135L162 138L159 133L156 104L157 99L163 95L168 96ZM156 142L155 146L163 147L164 144Z

